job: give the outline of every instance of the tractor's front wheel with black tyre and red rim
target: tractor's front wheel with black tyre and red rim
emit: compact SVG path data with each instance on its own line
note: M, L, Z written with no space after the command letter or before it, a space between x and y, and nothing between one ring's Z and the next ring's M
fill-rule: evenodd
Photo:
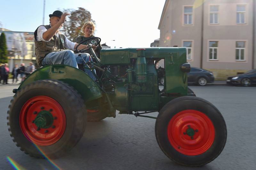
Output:
M220 111L194 96L167 103L156 119L156 139L162 151L184 166L202 166L218 157L227 139Z

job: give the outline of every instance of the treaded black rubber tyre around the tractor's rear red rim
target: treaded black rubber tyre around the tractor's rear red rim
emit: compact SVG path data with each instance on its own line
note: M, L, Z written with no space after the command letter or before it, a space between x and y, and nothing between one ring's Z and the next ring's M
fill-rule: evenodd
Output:
M20 114L23 110L23 106L28 105L27 101L40 96L54 99L64 111L66 118L65 122L61 122L65 124L62 136L57 139L56 142L49 145L35 145L32 140L28 140L24 135L24 133L27 132L23 133L20 126ZM30 105L33 104L34 103L31 103ZM47 105L45 108L46 107ZM43 108L44 107L41 109ZM31 115L29 111L26 113ZM20 147L21 151L36 158L44 158L44 155L42 155L39 149L51 159L61 157L78 143L85 130L86 108L84 106L84 101L75 89L61 81L39 80L26 85L13 96L7 115L8 130L13 141ZM59 118L57 120L60 122ZM58 127L55 128L55 126L52 126L50 128L56 129ZM43 131L42 133L44 133L44 129L40 129L40 131L41 130Z

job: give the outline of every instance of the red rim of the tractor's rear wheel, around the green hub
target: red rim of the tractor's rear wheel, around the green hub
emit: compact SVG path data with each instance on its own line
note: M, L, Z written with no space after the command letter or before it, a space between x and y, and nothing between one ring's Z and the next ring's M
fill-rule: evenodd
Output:
M53 123L49 128L40 128L34 123L40 111L49 111ZM26 138L36 145L48 146L56 143L66 129L66 116L60 104L48 96L29 99L20 111L20 128Z

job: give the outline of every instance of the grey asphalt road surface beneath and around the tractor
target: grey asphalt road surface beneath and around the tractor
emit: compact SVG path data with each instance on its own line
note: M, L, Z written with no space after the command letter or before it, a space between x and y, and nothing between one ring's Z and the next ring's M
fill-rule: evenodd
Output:
M218 158L202 167L179 166L160 150L155 119L118 115L88 123L83 138L68 155L55 160L35 159L20 151L7 129L12 89L0 85L0 169L63 170L254 170L256 168L256 87L190 86L198 97L213 103L227 124L227 143ZM148 114L156 116L157 113ZM7 159L10 158L10 159Z

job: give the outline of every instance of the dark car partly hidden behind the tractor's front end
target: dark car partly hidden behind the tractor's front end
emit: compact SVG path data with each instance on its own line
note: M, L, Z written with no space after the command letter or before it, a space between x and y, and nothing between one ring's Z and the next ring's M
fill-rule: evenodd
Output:
M158 82L164 85L164 68L159 67L157 70L159 75ZM214 82L214 76L212 72L207 71L202 68L191 67L190 72L188 73L188 83L189 84L197 84L199 86L205 86L207 83Z

